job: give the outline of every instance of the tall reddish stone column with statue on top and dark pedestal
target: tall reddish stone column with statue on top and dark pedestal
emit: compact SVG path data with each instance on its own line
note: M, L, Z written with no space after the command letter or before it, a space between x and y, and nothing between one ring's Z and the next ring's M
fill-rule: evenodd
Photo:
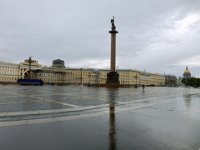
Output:
M116 31L114 17L111 19L111 60L110 60L110 72L107 74L106 86L107 87L119 87L119 74L116 72Z

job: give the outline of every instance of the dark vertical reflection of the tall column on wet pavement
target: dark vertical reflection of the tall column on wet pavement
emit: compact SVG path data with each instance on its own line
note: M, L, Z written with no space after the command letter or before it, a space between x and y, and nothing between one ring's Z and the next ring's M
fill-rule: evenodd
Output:
M109 96L109 150L116 150L116 118L115 118L115 104L118 96L118 89L108 89Z

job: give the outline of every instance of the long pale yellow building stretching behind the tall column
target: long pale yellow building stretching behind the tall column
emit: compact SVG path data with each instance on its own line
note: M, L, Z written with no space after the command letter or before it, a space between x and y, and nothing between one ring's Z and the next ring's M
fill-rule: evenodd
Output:
M59 61L59 60L56 60ZM16 83L19 78L26 78L28 63L19 64L0 62L0 83ZM64 65L46 67L34 62L31 64L32 77L42 79L45 84L73 84L73 85L105 85L106 69L66 68ZM138 70L117 70L119 81L123 86L164 86L165 76Z

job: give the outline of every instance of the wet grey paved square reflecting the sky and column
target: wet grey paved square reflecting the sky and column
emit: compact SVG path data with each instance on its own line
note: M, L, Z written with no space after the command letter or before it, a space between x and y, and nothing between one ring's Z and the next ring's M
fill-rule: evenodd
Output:
M0 86L0 150L199 150L200 89Z

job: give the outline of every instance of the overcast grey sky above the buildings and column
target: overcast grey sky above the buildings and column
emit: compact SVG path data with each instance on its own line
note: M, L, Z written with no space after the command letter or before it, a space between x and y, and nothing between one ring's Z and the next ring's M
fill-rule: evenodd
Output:
M0 60L109 68L112 16L117 68L200 77L200 0L0 0Z

